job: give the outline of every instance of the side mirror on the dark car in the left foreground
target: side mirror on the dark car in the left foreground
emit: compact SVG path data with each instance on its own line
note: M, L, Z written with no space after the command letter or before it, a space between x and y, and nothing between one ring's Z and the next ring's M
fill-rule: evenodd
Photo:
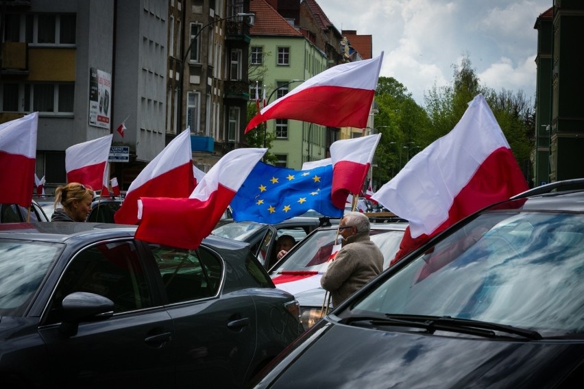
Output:
M82 321L100 321L114 314L114 302L107 297L88 292L74 292L63 299L61 331L66 336L77 334Z

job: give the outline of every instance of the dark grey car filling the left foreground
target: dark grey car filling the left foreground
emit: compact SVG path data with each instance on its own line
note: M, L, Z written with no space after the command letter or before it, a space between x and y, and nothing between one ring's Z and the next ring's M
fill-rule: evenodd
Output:
M239 388L302 330L247 244L135 229L0 225L2 387Z

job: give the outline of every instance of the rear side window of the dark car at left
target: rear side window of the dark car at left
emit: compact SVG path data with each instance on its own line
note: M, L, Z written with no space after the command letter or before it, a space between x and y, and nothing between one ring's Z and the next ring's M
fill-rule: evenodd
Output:
M221 261L204 249L189 251L150 244L169 303L204 299L217 294Z

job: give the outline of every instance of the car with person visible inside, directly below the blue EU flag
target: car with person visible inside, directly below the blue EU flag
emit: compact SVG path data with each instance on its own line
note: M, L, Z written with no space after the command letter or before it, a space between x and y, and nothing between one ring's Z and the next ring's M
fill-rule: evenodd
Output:
M252 253L265 268L276 263L276 240L284 234L291 235L300 242L311 231L320 225L339 224L339 219L315 216L296 216L273 225L255 222L234 222L232 219L222 219L211 232L221 236L247 242L252 246Z

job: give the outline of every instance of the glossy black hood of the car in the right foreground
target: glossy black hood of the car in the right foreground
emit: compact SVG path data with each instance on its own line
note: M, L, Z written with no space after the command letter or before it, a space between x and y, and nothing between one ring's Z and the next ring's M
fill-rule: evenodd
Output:
M325 321L301 339L257 388L271 379L273 388L550 388L584 351L583 341L506 342Z

